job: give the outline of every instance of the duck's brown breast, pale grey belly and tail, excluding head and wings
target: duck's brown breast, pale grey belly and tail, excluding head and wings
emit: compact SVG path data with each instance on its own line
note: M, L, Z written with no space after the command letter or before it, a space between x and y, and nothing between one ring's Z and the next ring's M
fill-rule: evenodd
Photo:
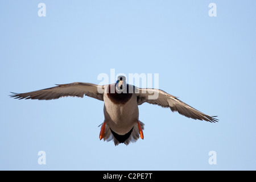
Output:
M127 84L127 88L133 88ZM114 93L110 93L110 90ZM144 124L139 121L139 107L137 96L133 93L117 93L115 84L109 85L104 92L104 117L105 133L104 140L112 139L108 133L114 135L114 143L135 142L139 138L139 125ZM103 123L102 123L103 124ZM144 129L144 128L143 128ZM130 133L130 134L129 134ZM123 137L122 137L123 136ZM143 136L141 136L143 138Z

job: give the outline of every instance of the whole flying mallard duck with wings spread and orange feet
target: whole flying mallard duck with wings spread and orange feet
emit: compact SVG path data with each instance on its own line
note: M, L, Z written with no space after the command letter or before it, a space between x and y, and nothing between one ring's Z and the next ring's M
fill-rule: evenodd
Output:
M117 82L109 85L96 85L85 82L56 84L52 88L27 93L12 93L10 97L32 100L53 100L60 97L89 96L104 101L105 120L100 125L100 140L113 140L119 143L136 142L144 138L144 123L139 121L138 106L147 102L162 107L170 107L171 111L192 119L218 122L216 116L209 116L185 104L177 97L160 89L138 88L126 84L125 76L118 76Z

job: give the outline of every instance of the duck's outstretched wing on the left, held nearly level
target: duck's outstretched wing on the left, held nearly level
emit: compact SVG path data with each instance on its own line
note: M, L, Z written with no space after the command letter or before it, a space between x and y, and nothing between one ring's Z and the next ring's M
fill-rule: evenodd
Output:
M37 99L37 100L52 100L60 97L84 97L89 96L96 98L97 100L103 101L104 86L95 85L83 82L73 82L71 84L56 84L52 88L37 90L34 92L27 93L13 93L10 97L19 99ZM102 92L101 92L102 91ZM101 93L100 93L101 92Z

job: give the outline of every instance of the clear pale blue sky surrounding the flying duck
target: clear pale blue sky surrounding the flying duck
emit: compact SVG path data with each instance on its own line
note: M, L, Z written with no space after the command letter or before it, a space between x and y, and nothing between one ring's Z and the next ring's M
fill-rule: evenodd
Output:
M46 17L38 4L46 4ZM209 3L217 16L210 17ZM255 1L1 1L0 169L255 170ZM144 140L98 139L104 103L14 100L100 73L158 73L159 88L218 115L143 104ZM46 165L38 152L46 152ZM209 151L217 164L210 165Z

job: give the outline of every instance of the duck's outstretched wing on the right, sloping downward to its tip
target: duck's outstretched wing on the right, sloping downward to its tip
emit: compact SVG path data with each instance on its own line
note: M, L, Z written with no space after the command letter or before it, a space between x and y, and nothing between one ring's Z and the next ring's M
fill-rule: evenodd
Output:
M177 97L172 96L163 90L136 88L135 93L137 93L138 105L148 102L149 104L157 104L162 107L170 107L173 112L177 111L179 114L188 118L209 122L218 122L218 119L214 118L216 116L209 116L201 113L199 110L194 109L193 107L177 99Z

